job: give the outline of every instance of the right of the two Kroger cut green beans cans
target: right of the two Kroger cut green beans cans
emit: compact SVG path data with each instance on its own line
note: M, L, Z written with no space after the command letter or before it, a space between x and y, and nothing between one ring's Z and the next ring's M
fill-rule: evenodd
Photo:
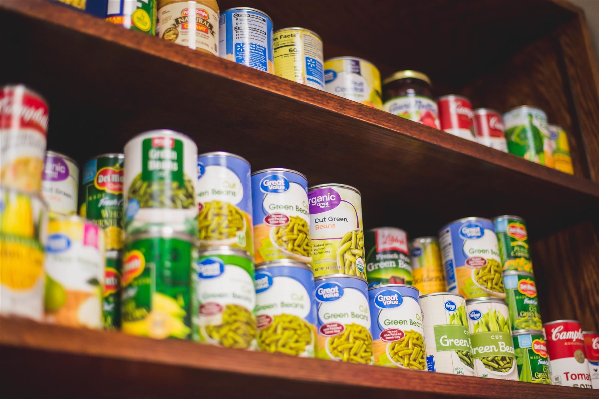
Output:
M510 314L504 300L481 297L466 301L474 375L518 380L518 367L510 329Z

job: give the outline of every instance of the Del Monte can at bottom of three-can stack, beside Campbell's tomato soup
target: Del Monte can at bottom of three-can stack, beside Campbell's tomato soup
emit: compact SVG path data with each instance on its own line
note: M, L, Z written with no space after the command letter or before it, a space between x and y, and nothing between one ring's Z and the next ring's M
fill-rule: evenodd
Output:
M543 331L517 330L513 331L512 338L519 380L550 384L547 343Z

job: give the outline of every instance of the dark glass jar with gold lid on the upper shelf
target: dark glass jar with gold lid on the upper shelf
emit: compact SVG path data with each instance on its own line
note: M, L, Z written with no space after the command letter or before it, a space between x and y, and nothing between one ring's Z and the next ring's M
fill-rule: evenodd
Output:
M431 80L418 71L398 71L383 80L383 109L391 114L440 129Z

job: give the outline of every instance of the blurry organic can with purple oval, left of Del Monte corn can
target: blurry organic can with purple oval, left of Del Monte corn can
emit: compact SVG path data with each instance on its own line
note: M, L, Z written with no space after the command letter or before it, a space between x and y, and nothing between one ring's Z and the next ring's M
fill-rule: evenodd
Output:
M47 151L41 182L41 196L48 204L50 215L77 214L79 165L64 154Z

